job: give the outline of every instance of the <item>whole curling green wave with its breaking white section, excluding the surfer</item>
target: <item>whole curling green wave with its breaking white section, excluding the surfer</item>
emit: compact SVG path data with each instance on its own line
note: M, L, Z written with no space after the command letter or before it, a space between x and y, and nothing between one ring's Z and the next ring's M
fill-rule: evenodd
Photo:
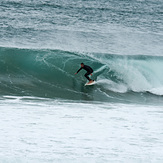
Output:
M80 63L94 69L85 87ZM0 48L0 94L86 101L162 100L163 57Z

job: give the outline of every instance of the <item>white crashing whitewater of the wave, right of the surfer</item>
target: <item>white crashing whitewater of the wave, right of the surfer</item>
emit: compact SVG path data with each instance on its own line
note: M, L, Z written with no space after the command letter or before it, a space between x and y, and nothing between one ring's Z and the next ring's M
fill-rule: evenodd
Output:
M101 60L102 61L102 60ZM149 59L103 59L107 70L98 76L99 83L105 88L116 92L152 92L157 95L163 94L163 66L158 58ZM110 75L113 73L113 77ZM114 82L113 80L116 80Z

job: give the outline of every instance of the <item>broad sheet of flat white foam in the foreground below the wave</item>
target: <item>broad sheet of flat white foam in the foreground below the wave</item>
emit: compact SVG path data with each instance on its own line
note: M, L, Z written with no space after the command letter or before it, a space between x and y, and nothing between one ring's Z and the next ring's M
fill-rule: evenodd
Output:
M14 100L0 110L0 162L163 161L162 107Z

